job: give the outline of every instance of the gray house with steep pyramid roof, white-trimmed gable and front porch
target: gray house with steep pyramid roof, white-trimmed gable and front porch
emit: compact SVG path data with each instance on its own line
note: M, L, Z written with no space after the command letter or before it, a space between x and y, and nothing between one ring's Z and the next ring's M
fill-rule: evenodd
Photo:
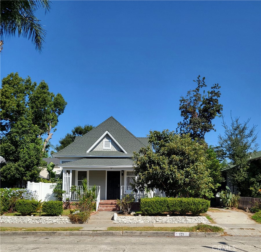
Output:
M147 137L135 137L109 117L53 157L60 158L58 166L63 169L63 189L68 196L71 196L71 185L81 186L82 179L87 178L89 186L98 187L100 200L116 200L132 192L130 183L135 178L132 155L147 146ZM136 200L141 196L138 194L135 194ZM153 196L153 192L149 196ZM72 200L77 199L77 195L73 195Z

